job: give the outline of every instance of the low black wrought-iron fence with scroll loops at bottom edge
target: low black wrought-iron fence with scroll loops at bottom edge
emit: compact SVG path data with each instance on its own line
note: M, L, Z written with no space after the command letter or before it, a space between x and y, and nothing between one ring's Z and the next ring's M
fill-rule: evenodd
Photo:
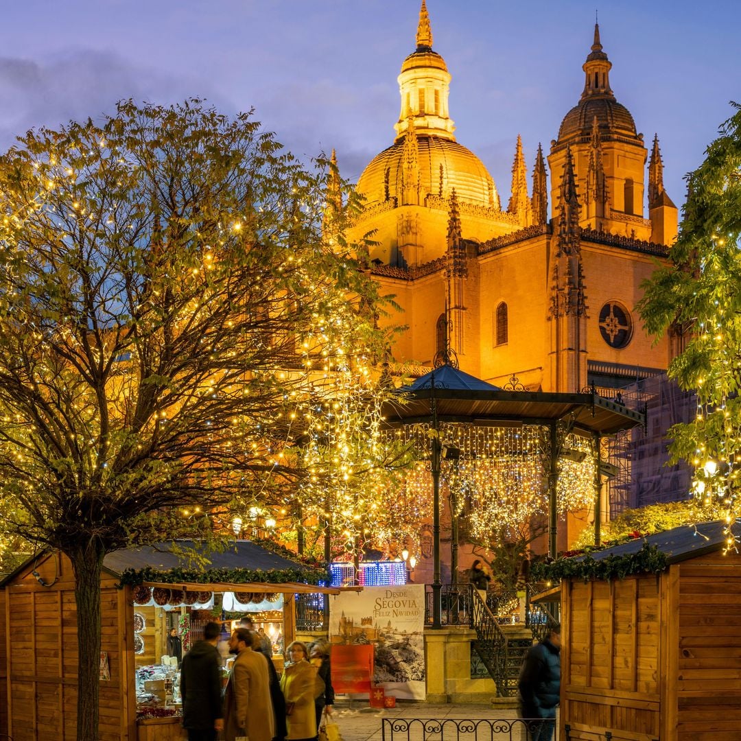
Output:
M535 719L382 718L382 741L519 741ZM540 722L540 721L537 721Z

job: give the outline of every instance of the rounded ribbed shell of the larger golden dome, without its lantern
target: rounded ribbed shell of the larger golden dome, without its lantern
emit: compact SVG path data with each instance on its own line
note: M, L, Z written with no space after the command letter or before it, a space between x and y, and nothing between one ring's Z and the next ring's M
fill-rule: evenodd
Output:
M424 203L428 195L447 199L455 188L459 201L485 207L499 206L494 180L471 150L441 136L417 135L415 139L420 203ZM363 170L357 187L365 196L366 205L373 206L393 198L402 205L404 155L405 140L399 139L376 155Z

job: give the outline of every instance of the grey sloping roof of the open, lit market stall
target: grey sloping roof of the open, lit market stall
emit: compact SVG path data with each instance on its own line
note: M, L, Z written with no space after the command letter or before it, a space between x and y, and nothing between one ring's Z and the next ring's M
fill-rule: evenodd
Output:
M175 552L173 552L175 550ZM179 552L182 551L182 552ZM188 551L195 551L205 564L201 567L193 565L193 559L189 556ZM162 542L155 545L142 545L136 548L124 548L121 551L114 551L105 556L103 567L116 576L121 576L127 569L141 571L144 568L150 568L154 571L162 572L164 578L168 571L173 569L182 569L187 572L197 572L205 569L249 569L250 571L309 571L305 565L292 559L284 558L278 554L268 551L262 546L253 543L250 540L234 540L230 542L224 551L213 551L211 549L204 551L199 542L194 540L176 540L174 542ZM144 582L150 586L172 587L173 582L159 581L156 578L147 579ZM227 591L247 590L250 591L268 591L268 592L325 592L328 594L339 594L340 588L324 587L303 582L213 582L211 587L218 584ZM201 582L194 582L184 579L182 582L176 582L176 585L182 585L185 588L203 587Z

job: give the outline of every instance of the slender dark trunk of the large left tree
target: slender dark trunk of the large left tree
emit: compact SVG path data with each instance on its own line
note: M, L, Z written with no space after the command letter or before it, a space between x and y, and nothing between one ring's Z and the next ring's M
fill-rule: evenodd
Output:
M67 553L75 573L77 605L77 741L98 739L101 608L104 551L87 542Z

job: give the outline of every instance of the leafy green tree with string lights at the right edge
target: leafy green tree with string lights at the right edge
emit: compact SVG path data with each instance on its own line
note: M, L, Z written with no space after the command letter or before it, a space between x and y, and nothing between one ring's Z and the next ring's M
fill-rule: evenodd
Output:
M668 432L672 462L694 465L695 493L724 505L728 522L741 514L741 107L732 105L736 113L687 176L671 265L645 282L638 305L649 333L682 340L668 375L697 393L694 421Z

